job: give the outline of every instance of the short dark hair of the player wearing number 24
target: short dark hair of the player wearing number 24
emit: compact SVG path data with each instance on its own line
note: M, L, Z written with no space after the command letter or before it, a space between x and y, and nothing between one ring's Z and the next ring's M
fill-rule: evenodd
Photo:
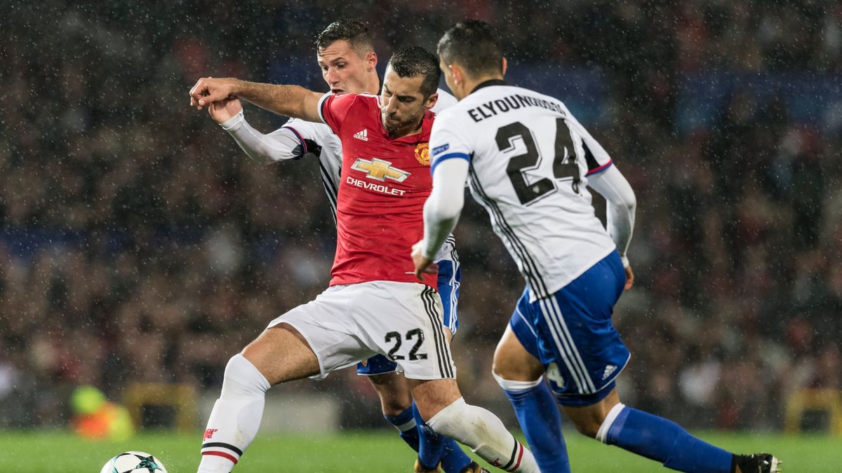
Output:
M459 63L470 77L503 73L497 32L478 19L466 19L448 29L439 40L438 53L445 64Z

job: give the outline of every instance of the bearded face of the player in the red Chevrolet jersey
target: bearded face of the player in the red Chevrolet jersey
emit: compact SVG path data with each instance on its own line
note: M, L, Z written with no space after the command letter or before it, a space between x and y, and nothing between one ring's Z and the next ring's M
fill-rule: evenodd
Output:
M386 68L380 114L389 136L399 138L418 130L424 113L433 108L439 94L425 98L421 93L422 82L424 77L400 77L392 67Z

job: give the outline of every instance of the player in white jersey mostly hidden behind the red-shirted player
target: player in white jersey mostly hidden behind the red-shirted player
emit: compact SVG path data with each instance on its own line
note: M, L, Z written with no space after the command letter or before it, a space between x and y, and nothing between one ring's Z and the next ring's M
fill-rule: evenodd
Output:
M316 48L318 66L322 69L322 77L331 93L341 95L380 91L377 55L365 24L349 19L333 22L318 35ZM432 109L434 113L456 104L456 98L449 93L442 90L438 93L439 99ZM315 156L335 221L342 143L328 125L290 119L280 129L264 135L248 124L242 113L242 104L237 98L211 104L208 111L255 161L269 164ZM444 309L445 327L450 337L456 334L458 328L456 304L461 280L454 242L452 237L448 238L436 257L439 267L438 290ZM383 417L418 452L416 470L435 471L437 465L441 465L445 473L482 471L456 442L425 428L418 408L413 407L407 380L396 371L397 364L383 355L357 365L357 373L367 376L375 387Z

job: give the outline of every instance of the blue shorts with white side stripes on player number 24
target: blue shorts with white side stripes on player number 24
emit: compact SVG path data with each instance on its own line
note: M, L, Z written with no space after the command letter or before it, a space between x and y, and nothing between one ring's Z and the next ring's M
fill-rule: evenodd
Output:
M546 368L564 406L589 406L610 394L630 353L611 322L626 284L617 252L570 284L530 303L527 286L509 320L515 337Z

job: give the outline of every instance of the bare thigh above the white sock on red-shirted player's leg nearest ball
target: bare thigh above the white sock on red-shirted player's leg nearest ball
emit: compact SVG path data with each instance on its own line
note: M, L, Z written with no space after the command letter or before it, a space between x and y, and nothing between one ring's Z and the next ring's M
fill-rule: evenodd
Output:
M266 377L270 385L319 373L316 353L300 332L284 323L264 330L243 348L242 356Z

